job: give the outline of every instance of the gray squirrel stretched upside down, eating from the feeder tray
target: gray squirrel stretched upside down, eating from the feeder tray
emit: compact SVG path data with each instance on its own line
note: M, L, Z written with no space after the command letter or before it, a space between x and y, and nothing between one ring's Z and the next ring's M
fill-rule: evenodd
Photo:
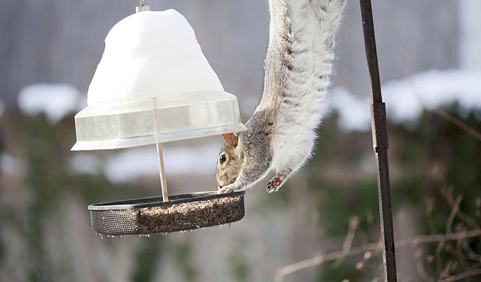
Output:
M334 59L344 0L269 0L269 47L262 98L247 131L223 134L219 193L242 191L271 171L278 191L311 157Z

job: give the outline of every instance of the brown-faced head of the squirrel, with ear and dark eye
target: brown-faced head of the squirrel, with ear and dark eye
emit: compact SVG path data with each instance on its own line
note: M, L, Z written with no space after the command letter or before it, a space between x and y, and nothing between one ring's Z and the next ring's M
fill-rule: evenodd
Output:
M219 189L236 181L244 161L244 153L240 152L240 146L238 146L238 135L225 133L222 138L225 144L217 158L216 169Z

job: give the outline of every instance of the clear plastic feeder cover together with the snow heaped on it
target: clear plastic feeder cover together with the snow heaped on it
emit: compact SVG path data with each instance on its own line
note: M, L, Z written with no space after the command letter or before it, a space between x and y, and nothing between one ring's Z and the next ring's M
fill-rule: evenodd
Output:
M120 149L245 130L194 30L175 10L118 22L75 116L78 150Z

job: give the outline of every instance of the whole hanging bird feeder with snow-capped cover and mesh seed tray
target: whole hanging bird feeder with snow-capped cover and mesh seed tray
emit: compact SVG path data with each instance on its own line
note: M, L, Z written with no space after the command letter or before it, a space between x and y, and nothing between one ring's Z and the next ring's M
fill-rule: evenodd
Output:
M89 205L100 235L151 235L238 221L244 193L168 195L161 143L244 131L236 96L224 91L186 18L137 12L113 26L75 116L73 151L155 144L161 197Z

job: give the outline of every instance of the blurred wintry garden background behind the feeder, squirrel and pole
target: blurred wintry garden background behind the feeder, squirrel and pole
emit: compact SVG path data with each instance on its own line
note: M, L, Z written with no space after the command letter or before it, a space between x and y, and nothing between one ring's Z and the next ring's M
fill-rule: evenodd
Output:
M147 4L188 19L247 121L262 93L266 1ZM383 281L366 56L353 0L315 155L287 185L268 195L266 179L247 191L245 218L231 226L94 234L88 204L160 195L154 146L69 151L104 37L135 6L0 0L0 281ZM481 281L481 1L372 6L394 228L404 240L399 281ZM166 144L170 193L214 190L221 145L220 136ZM416 243L436 234L457 237Z

